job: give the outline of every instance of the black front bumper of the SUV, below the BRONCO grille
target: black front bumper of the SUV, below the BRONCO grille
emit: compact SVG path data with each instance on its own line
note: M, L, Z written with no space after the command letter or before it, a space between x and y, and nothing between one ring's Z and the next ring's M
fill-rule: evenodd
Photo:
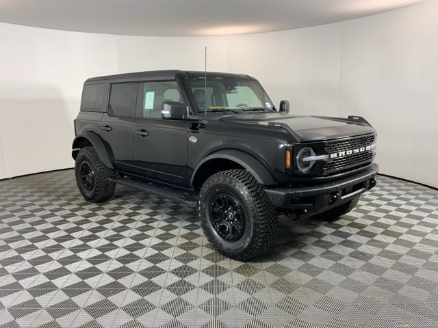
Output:
M303 213L316 214L348 202L374 187L378 165L325 184L299 188L267 188L266 194L276 208L300 210Z

